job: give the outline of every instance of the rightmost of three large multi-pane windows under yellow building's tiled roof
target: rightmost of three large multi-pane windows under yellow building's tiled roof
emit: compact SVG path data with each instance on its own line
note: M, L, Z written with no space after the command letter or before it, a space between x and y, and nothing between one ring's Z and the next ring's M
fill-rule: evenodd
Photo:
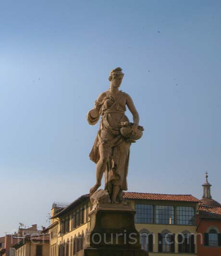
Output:
M177 206L177 225L195 225L195 209L188 206Z

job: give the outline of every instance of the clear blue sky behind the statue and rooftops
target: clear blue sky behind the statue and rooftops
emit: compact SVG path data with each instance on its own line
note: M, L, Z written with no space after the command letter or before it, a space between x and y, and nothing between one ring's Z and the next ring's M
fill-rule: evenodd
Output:
M95 184L86 113L119 66L145 127L129 191L200 199L208 171L221 202L220 45L220 0L0 1L0 236Z

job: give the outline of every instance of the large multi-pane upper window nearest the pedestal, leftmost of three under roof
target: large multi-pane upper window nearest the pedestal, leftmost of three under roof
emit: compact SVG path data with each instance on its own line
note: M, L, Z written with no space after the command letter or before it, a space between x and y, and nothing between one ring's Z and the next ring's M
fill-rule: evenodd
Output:
M135 223L154 223L154 207L149 204L135 204Z

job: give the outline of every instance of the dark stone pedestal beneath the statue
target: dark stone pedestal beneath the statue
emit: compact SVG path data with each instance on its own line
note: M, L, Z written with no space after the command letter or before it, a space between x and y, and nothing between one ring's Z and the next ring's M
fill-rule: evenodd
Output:
M141 250L135 211L128 204L101 203L90 212L84 256L148 256Z

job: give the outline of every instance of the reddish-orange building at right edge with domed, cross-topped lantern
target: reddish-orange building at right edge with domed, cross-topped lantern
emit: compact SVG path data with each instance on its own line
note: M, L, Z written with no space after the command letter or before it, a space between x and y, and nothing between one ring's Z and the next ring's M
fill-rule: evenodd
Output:
M197 215L198 256L221 256L221 204L212 199L211 184L203 186L203 197Z

